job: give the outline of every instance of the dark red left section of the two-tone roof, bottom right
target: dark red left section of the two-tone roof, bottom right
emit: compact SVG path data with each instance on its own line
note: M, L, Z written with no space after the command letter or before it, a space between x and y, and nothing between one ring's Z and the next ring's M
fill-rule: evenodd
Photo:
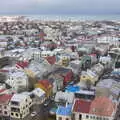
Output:
M91 101L76 99L73 112L89 113Z

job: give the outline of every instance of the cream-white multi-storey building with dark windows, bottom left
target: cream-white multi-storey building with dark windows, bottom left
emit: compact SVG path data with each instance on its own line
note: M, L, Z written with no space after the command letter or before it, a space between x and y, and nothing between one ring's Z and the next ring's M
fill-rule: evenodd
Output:
M10 101L11 118L24 118L30 112L32 99L29 95L14 94Z

